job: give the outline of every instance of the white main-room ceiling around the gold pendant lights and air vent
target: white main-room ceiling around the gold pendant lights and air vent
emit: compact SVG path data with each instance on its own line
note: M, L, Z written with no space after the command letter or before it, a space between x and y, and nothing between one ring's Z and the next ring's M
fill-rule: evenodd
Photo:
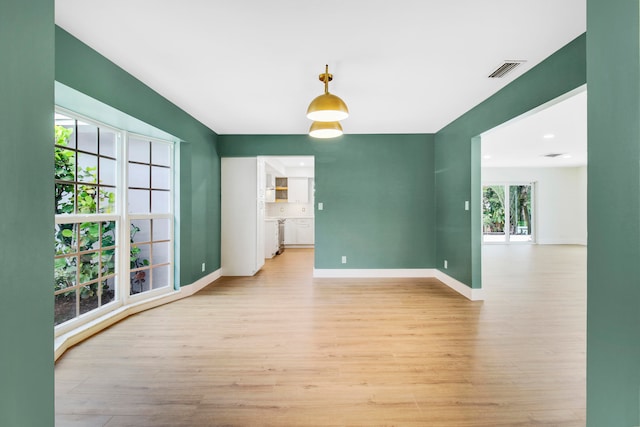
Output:
M435 133L586 29L586 0L56 0L56 23L219 134ZM504 60L526 60L503 79Z

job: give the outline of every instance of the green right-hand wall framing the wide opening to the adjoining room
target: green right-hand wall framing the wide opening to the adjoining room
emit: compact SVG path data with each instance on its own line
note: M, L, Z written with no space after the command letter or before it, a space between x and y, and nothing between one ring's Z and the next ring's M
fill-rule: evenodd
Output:
M435 135L436 265L442 270L446 259L449 276L481 287L480 149L472 139L584 85L585 70L583 34Z

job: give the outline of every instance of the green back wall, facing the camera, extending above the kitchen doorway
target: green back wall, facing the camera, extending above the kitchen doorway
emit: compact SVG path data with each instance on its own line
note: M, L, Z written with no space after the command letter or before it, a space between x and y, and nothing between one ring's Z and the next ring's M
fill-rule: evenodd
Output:
M315 268L433 268L433 135L221 135L222 157L314 155ZM346 255L348 263L341 263Z

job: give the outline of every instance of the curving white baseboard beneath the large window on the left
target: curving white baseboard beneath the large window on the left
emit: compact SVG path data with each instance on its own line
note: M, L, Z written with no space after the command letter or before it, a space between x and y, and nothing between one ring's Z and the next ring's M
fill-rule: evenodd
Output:
M58 360L60 356L70 347L86 340L92 335L108 328L109 326L126 319L132 314L140 313L141 311L149 310L151 308L159 307L161 305L174 302L183 298L190 297L196 292L202 290L207 285L215 282L220 278L220 270L216 270L200 279L196 280L189 286L183 286L175 292L171 292L168 295L162 295L155 298L147 299L137 302L135 304L122 306L116 310L113 310L104 316L101 316L91 322L88 322L66 334L60 335L54 342L54 361Z

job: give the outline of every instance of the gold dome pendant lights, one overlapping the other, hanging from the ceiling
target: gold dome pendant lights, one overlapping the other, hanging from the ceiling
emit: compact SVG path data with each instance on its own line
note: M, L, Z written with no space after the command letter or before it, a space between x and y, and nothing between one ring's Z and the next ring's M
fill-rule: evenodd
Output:
M349 109L340 97L329 93L329 82L333 80L333 75L329 74L329 65L325 65L325 72L318 78L324 83L324 93L314 98L307 108L307 118L313 120L309 135L315 138L335 138L342 135L342 126L338 122L349 117Z

